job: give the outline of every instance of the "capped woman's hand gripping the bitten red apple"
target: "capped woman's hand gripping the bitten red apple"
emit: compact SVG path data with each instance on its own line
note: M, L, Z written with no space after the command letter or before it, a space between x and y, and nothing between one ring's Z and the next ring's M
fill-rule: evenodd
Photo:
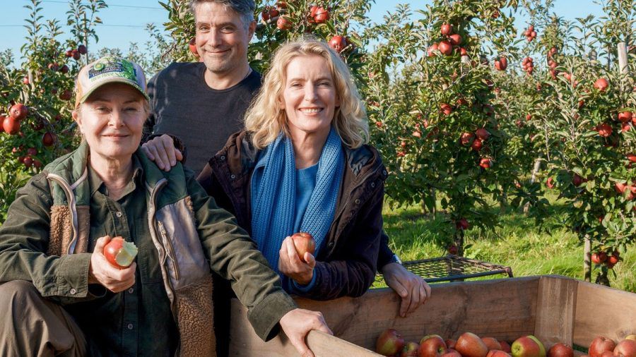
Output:
M106 289L118 293L135 284L136 263L129 267L117 269L106 259L104 246L110 241L110 236L103 236L95 242L95 250L90 257L88 267L88 284L101 284Z

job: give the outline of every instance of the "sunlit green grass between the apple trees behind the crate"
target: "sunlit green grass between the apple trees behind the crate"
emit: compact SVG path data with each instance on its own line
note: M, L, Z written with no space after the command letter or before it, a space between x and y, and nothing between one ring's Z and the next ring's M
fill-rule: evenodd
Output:
M419 206L391 210L385 205L383 216L384 229L391 237L389 245L402 260L446 255L446 249L435 243L444 238L440 236L447 226L444 214L433 218L422 214ZM465 253L467 258L512 267L515 277L560 274L583 279L583 246L577 236L560 226L554 217L539 229L534 219L509 210L500 215L500 226L495 231L485 234L478 229L466 231L466 243L471 245ZM636 292L636 246L621 252L621 258L623 261L608 274L610 284L616 289ZM599 268L593 269L592 281L599 272ZM493 277L504 276L482 279Z

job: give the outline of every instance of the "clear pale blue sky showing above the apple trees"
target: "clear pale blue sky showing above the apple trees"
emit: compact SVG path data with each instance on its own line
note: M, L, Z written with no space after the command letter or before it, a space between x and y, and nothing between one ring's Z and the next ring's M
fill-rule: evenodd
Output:
M157 0L107 0L108 8L102 9L99 16L103 25L98 26L97 34L100 41L98 48L119 47L126 53L130 42L143 44L148 40L144 29L146 23L155 23L158 28L167 20L165 11ZM24 5L30 4L28 0L0 0L2 4L4 20L0 24L0 50L11 49L20 62L20 46L27 35L24 19L28 18L28 9ZM424 4L430 4L429 0L376 0L372 6L370 18L374 22L382 20L382 16L395 8L396 4L411 4L411 8L423 8ZM134 7L131 7L134 6ZM66 11L69 10L67 1L44 0L42 1L42 15L45 19L57 18L61 24L66 22ZM601 6L592 0L555 0L554 12L567 20L593 14L599 16ZM517 16L517 27L524 27L524 16ZM68 30L64 27L63 29ZM89 45L90 47L90 45Z

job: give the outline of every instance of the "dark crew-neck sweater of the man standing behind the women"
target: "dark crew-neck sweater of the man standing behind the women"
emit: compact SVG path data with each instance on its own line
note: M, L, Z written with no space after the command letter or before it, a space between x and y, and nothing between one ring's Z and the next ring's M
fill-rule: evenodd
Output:
M151 134L170 134L188 150L186 166L199 174L232 133L243 127L243 116L261 87L252 71L237 85L214 90L206 84L204 63L171 63L148 81L151 115L143 126L143 140Z

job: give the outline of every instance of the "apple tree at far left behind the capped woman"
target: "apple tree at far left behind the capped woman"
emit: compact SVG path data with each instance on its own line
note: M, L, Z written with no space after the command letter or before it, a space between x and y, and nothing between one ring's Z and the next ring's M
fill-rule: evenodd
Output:
M104 1L69 1L66 24L71 38L63 35L59 20L42 19L42 1L25 5L30 11L28 35L21 47L22 63L0 65L0 206L4 214L25 179L76 143L71 119L73 80L86 61L86 43L97 40L95 14Z

